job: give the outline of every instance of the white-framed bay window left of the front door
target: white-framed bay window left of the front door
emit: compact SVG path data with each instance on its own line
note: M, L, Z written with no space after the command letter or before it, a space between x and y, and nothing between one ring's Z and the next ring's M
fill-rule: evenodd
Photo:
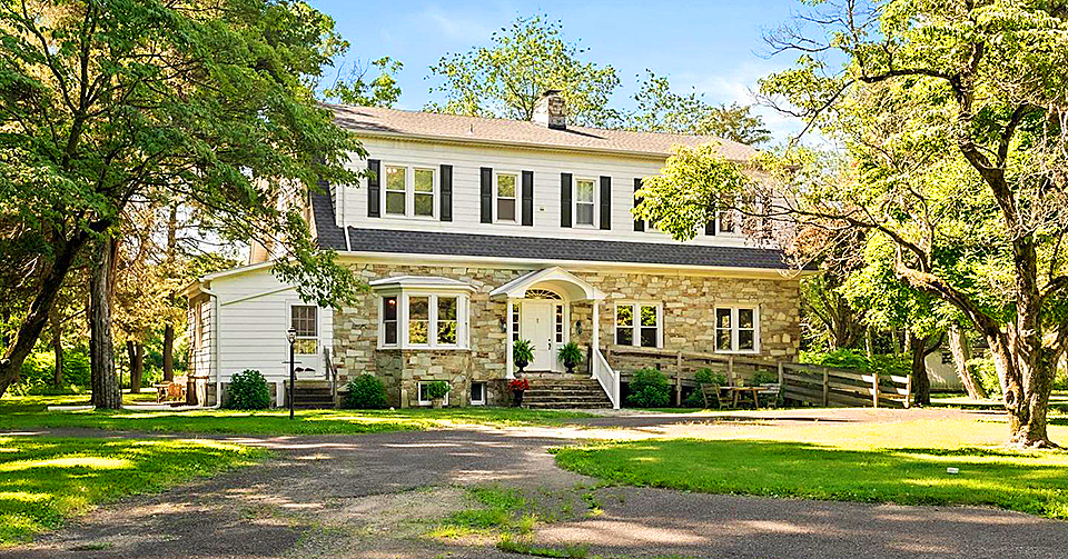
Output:
M468 298L462 293L390 292L378 298L379 348L464 349Z

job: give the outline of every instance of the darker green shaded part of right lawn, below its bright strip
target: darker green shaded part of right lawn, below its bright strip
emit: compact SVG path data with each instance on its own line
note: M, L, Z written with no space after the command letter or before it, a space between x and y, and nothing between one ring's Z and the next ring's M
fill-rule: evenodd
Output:
M993 506L1068 519L1068 452L847 449L769 440L644 440L555 450L564 469L710 493ZM951 475L947 468L958 468Z

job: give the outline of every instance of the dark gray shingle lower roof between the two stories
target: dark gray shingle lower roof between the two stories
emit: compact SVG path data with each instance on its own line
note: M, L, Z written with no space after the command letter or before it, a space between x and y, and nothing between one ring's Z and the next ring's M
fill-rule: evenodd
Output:
M782 260L782 251L753 247L551 239L507 234L357 229L354 227L348 228L348 239L352 250L358 252L772 270L789 268Z

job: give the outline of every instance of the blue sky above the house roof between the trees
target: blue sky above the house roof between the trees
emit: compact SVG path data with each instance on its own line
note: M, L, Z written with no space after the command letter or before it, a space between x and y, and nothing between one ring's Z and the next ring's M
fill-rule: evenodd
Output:
M334 17L352 43L347 63L383 56L404 62L402 109L419 109L429 99L425 78L442 56L486 44L494 30L537 11L562 20L566 39L590 49L587 60L615 67L623 82L616 107L630 107L635 76L646 68L666 74L676 91L693 87L712 102L751 103L760 77L793 62L789 56L768 59L761 32L799 7L797 0L310 3ZM767 109L759 112L779 140L799 129Z

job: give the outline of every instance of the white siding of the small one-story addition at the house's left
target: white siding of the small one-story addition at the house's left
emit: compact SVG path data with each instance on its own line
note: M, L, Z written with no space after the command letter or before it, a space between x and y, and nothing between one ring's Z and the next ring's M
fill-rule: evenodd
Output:
M289 307L307 305L294 288L279 282L268 269L224 277L211 281L219 306L219 369L222 382L235 372L256 369L269 381L289 378ZM334 313L318 311L319 353L297 356L297 367L314 373L299 378L325 378L323 348L333 348Z

